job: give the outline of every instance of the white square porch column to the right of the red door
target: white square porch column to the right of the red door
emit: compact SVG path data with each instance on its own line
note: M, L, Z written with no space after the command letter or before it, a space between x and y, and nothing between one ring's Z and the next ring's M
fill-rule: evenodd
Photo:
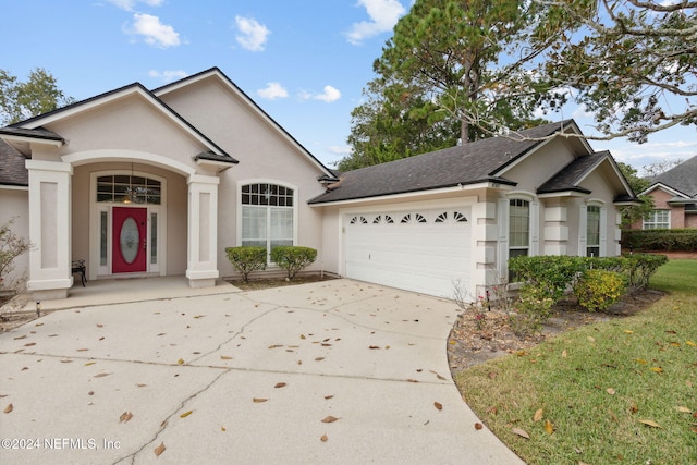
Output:
M188 254L186 278L192 287L212 287L218 271L217 176L188 178Z

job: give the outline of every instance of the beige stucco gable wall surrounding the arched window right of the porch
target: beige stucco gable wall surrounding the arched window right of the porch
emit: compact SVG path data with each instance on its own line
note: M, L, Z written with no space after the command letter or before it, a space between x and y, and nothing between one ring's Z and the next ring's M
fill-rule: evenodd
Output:
M321 211L307 205L307 200L323 192L317 181L323 172L296 143L217 79L192 84L160 98L240 161L220 174L218 267L222 277L236 274L224 249L240 245L239 189L240 185L249 182L295 188L298 200L296 244L318 250L317 260L306 270L323 268L337 272L334 255L323 248L322 225L326 222Z

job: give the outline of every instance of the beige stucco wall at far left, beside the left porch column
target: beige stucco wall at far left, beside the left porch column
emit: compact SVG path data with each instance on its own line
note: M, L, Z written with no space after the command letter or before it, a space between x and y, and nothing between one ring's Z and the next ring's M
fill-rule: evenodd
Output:
M0 224L13 220L11 231L20 237L29 238L29 193L26 188L0 187ZM5 277L0 289L10 286L28 273L29 254L23 254L14 260L14 271Z

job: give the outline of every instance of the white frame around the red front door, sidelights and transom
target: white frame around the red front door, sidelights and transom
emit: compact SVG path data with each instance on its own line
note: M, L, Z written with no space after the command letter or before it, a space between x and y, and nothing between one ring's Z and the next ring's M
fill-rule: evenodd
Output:
M148 173L145 171L131 171L131 170L106 170L90 173L89 176L89 266L87 272L89 279L97 279L98 277L113 276L112 269L112 209L113 207L126 207L121 203L111 201L97 201L97 179L107 175L135 175L149 178L160 182L160 204L137 204L133 205L134 208L147 208L147 256L146 256L146 273L159 273L166 274L167 270L167 179L157 174ZM126 207L127 208L127 207ZM100 262L100 213L107 212L107 265ZM150 262L152 253L150 250L152 225L151 215L157 213L157 262Z

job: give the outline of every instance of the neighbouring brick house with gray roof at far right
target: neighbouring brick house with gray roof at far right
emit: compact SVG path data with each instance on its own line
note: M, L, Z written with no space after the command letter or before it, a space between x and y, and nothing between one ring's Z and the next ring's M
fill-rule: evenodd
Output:
M653 198L653 211L632 229L697 228L697 156L651 179L641 195Z

